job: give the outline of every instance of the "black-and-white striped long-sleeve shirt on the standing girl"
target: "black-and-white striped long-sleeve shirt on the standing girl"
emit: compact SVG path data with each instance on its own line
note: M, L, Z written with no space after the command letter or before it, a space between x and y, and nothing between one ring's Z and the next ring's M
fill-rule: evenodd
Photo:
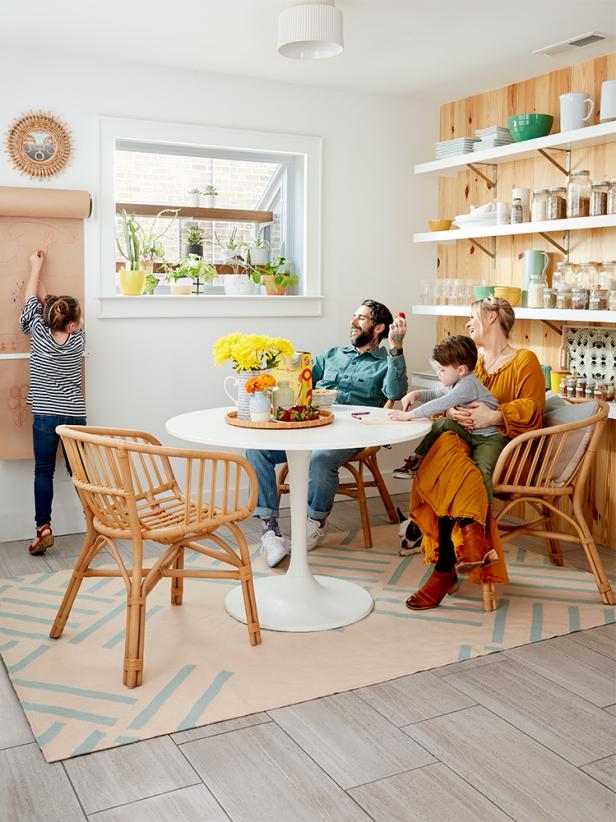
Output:
M31 336L28 403L32 413L85 417L81 389L85 333L75 331L66 342L58 344L43 322L43 306L38 297L26 301L19 325L22 333Z

